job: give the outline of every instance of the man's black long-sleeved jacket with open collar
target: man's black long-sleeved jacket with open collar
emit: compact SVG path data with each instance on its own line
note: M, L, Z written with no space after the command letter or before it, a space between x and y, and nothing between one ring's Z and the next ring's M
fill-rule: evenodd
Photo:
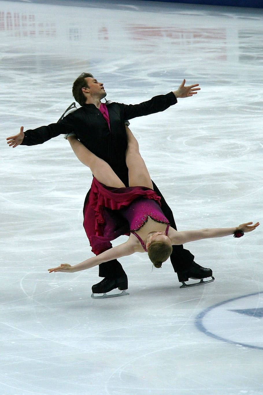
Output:
M164 111L175 103L177 99L173 92L135 105L108 103L110 130L99 109L94 104L84 104L58 123L27 130L22 145L42 144L52 137L74 132L85 147L105 160L127 184L125 120Z

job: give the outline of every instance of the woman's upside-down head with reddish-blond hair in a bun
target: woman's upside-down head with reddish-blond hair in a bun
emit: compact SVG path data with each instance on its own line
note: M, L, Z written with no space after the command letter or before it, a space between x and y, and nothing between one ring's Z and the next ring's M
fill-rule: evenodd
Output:
M160 238L159 238L160 239ZM147 246L148 256L155 267L161 267L162 262L166 261L172 254L173 247L169 237L165 240L155 239Z

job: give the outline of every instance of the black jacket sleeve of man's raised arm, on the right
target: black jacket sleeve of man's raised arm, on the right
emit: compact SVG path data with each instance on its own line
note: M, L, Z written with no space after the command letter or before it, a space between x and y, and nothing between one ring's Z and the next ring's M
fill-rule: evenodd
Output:
M151 100L140 104L122 104L124 111L123 118L132 119L142 117L143 115L159 113L175 103L177 103L177 99L173 92L170 92L166 95L154 96Z

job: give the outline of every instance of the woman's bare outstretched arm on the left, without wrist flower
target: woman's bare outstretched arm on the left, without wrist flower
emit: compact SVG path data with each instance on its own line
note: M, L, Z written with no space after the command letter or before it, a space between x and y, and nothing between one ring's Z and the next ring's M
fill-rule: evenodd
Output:
M54 267L52 269L48 269L49 273L52 272L65 272L65 273L75 273L77 271L90 269L91 267L97 266L100 263L111 261L113 259L121 258L122 256L127 256L133 254L135 251L134 244L131 239L127 240L125 243L122 243L116 247L110 248L110 250L104 251L97 256L93 256L86 261L78 263L77 265L69 265L68 263L62 263L62 265L58 267Z

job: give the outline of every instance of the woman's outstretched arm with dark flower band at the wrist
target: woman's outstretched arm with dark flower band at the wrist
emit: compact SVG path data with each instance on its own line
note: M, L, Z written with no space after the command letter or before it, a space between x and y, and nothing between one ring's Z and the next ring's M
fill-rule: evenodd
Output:
M251 232L259 226L259 222L247 222L235 228L214 228L214 229L200 229L200 230L187 230L182 232L173 232L171 237L172 245L181 245L189 241L196 241L201 239L210 239L212 237L224 237L233 235L237 231L244 233Z

